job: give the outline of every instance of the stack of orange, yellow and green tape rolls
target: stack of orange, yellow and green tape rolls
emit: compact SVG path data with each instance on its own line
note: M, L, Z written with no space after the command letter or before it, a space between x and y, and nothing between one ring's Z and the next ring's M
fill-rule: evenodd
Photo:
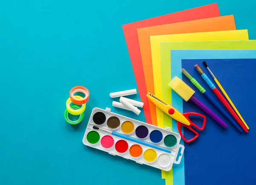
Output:
M75 95L75 93L84 93L85 97L83 98L79 95ZM70 97L67 99L66 102L67 109L64 112L64 118L69 124L79 124L83 120L84 110L86 107L86 103L89 100L89 96L89 91L82 86L76 86L70 90ZM71 103L73 103L73 105L71 105ZM79 105L82 106L79 107ZM72 121L68 116L69 113L72 115L79 115L79 119L77 119L76 121Z

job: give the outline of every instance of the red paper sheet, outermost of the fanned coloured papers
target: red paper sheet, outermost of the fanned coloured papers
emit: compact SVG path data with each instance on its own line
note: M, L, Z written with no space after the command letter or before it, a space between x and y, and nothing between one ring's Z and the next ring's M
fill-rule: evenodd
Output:
M148 92L146 90L145 85L145 77L140 55L140 45L137 35L137 29L149 26L158 26L163 24L179 23L189 20L198 20L219 16L220 13L218 10L218 5L217 3L215 3L207 6L201 6L195 9L189 9L182 12L176 12L173 14L163 15L160 17L154 17L151 19L141 20L135 23L122 25L126 45L131 59L131 65L134 71L134 76L140 95L140 100L144 103L143 111L147 123L152 124L152 121L149 110L149 102L148 98L146 97L146 94ZM148 55L151 55L151 53L148 53Z

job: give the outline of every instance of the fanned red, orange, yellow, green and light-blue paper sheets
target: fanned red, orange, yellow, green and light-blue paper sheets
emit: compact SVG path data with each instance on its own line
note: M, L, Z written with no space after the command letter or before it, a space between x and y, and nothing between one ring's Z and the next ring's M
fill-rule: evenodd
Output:
M249 40L247 30L236 30L233 15L220 16L217 4L129 23L122 29L146 122L175 132L176 121L148 101L146 94L150 92L183 112L182 99L167 85L174 76L182 78L183 62L193 67L192 59L253 58L254 51L242 49L256 49L256 40ZM166 185L184 185L184 173L183 157L172 171L162 171L162 178Z

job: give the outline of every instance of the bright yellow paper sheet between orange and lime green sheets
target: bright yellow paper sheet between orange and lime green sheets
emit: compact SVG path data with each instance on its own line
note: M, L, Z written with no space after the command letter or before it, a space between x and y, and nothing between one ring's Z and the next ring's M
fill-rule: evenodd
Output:
M176 34L176 35L158 35L151 36L151 57L154 75L154 90L155 95L159 98L162 96L162 83L161 83L161 63L160 63L160 42L177 42L177 41L204 41L204 40L248 40L247 30L234 30L234 31L220 31L220 32L201 32L189 34ZM168 55L168 54L166 54ZM168 59L167 59L168 60ZM167 61L166 60L166 61ZM170 61L170 54L169 54ZM166 69L171 69L170 62L167 63ZM171 73L171 72L169 72ZM170 77L171 75L169 75ZM165 88L168 92L168 87ZM167 93L166 101L172 104L171 92ZM165 99L165 98L163 98ZM172 119L169 116L163 122L163 112L157 108L157 123L159 127L169 126L172 128ZM163 178L166 178L166 185L172 185L172 172L162 173Z

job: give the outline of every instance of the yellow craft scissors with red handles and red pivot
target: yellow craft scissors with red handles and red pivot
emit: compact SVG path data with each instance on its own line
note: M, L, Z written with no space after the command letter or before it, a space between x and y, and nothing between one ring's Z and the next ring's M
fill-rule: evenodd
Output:
M177 121L177 129L178 132L180 133L181 138L184 140L184 142L189 143L194 141L195 139L198 138L199 133L195 131L191 126L195 127L196 129L202 131L204 130L205 123L206 123L206 117L202 114L199 113L180 113L177 111L174 107L171 105L167 104L165 101L160 100L157 98L155 95L148 93L147 97L150 101L152 101L153 104L155 104L160 110L162 110L164 113L166 113L168 116L171 118L175 119ZM204 119L202 127L198 127L196 124L194 124L190 119L189 116L194 115L194 116L199 116ZM192 139L187 140L184 136L183 133L181 132L181 127L186 127L192 133L195 134L195 136Z

